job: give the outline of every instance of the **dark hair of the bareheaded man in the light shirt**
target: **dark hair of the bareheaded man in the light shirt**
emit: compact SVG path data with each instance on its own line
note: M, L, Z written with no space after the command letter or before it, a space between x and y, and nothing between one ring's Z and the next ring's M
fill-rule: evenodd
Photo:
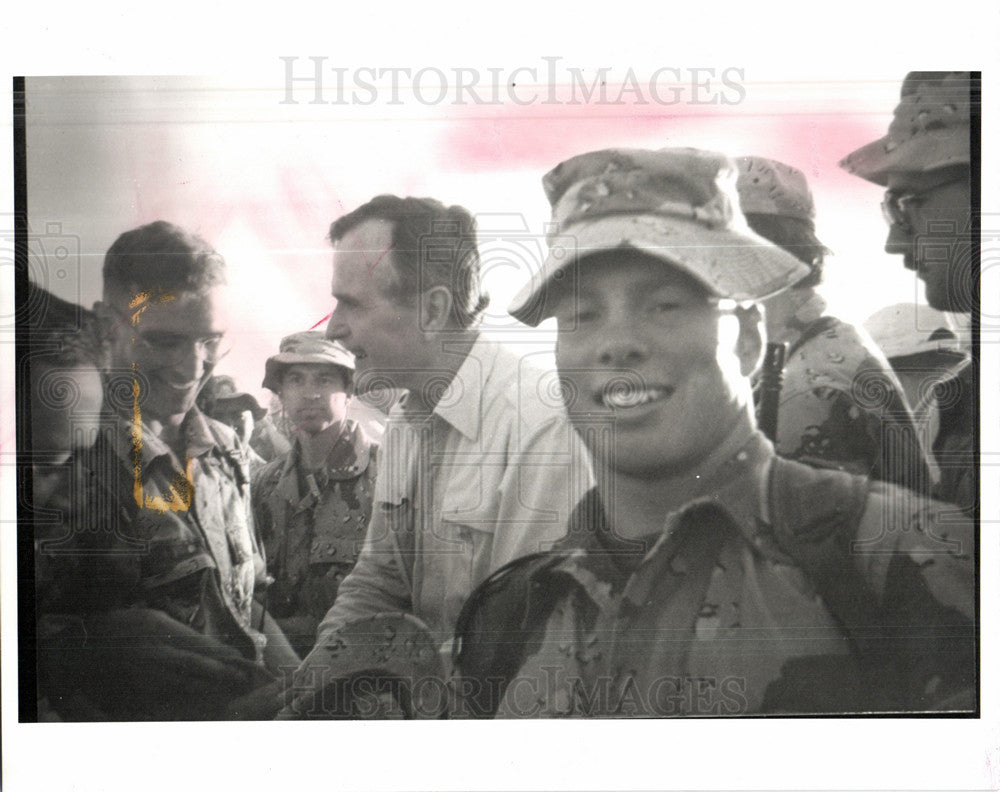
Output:
M433 198L379 195L330 224L330 242L366 220L392 223L395 294L410 301L434 286L452 294L452 320L460 328L479 321L489 295L482 292L476 221L461 206L445 206Z

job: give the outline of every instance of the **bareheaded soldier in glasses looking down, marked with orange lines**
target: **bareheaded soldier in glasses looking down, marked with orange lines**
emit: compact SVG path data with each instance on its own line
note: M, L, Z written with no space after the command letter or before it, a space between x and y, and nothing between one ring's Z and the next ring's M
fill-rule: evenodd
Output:
M195 404L225 353L225 264L165 222L122 234L95 306L105 420L73 474L40 686L68 720L261 717L297 657L264 581L245 451Z

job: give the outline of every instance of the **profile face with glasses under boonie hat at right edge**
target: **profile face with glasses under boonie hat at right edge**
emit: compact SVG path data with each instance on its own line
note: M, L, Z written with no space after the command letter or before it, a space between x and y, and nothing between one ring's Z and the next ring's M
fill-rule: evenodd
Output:
M967 173L893 173L883 207L887 253L924 282L927 302L941 311L972 309L971 186Z

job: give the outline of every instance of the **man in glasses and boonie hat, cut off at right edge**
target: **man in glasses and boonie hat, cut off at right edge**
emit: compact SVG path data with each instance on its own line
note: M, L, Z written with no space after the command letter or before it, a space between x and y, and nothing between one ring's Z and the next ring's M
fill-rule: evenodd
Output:
M972 110L977 81L969 72L910 72L888 134L841 161L845 170L888 188L882 213L887 253L924 282L939 311L969 313L978 261L972 238ZM916 316L914 316L914 322ZM972 516L978 503L976 426L979 367L942 383L953 394L940 410L934 456L935 496Z

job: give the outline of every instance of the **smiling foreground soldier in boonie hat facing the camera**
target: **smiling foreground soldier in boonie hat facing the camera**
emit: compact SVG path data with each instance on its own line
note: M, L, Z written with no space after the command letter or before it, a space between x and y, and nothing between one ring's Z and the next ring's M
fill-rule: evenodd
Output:
M968 523L776 456L754 426L756 302L808 268L741 227L727 175L721 155L666 149L545 177L552 253L510 311L558 322L597 486L557 550L470 597L461 714L974 706Z

